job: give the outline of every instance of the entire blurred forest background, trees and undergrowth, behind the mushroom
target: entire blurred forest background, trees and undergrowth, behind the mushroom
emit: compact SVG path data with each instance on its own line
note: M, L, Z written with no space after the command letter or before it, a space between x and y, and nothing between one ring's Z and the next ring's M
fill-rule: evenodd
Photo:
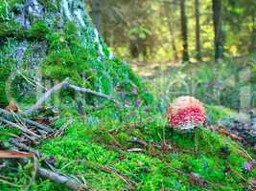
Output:
M96 0L90 13L113 53L156 81L156 96L168 86L167 103L187 94L255 107L255 0Z

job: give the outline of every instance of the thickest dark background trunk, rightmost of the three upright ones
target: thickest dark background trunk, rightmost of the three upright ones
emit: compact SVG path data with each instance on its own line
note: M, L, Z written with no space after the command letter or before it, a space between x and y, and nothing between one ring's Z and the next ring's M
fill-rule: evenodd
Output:
M223 32L221 25L221 0L213 0L213 21L215 34L215 60L223 57Z

